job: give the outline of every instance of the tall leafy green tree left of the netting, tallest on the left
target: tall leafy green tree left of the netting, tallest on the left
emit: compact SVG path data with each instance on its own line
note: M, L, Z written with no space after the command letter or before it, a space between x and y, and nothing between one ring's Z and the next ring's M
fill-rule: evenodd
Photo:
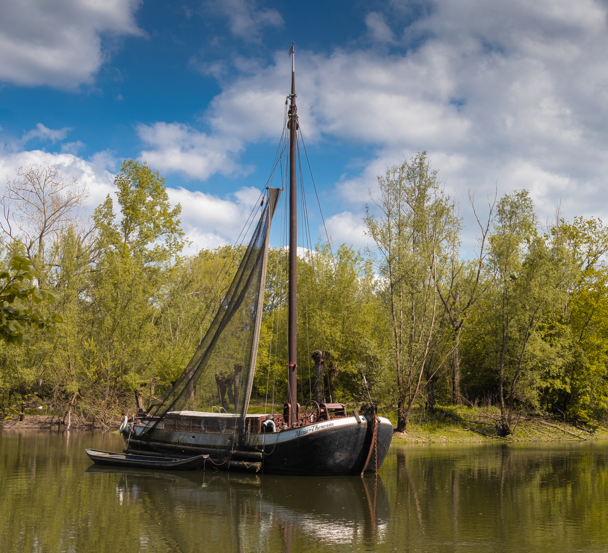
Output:
M134 378L149 379L164 345L156 325L166 309L184 246L179 215L171 208L165 179L146 163L125 160L114 180L122 218L108 195L95 210L101 253L91 270L86 308L85 363L100 397L89 405L110 416ZM121 388L125 383L126 390Z

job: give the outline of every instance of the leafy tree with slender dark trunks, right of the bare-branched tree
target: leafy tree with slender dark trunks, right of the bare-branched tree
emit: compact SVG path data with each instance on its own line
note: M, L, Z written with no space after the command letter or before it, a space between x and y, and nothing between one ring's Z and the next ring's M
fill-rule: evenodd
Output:
M515 191L500 199L489 237L486 278L492 286L479 307L488 325L485 335L494 339L497 352L498 431L502 436L513 432L514 400L523 369L527 367L531 376L533 368L542 366L541 355L527 355L528 346L534 337L540 346L539 325L565 300L568 269L564 250L559 241L539 235L536 225L528 191Z

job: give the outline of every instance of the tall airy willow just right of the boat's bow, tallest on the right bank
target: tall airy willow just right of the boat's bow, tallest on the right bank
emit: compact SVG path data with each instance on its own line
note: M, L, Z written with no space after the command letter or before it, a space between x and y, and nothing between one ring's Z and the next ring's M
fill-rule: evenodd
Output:
M365 224L378 249L381 298L393 335L397 430L403 431L429 364L433 376L449 358L441 347L445 310L437 283L449 272L458 224L426 152L389 168L370 196Z

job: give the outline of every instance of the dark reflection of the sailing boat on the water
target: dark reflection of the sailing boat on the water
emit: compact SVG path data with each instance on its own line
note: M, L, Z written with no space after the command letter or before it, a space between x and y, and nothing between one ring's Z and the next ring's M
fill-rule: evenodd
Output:
M390 521L389 498L375 475L330 479L218 471L178 474L98 465L87 472L105 473L116 481L117 508L130 512L140 507L137 524L131 526L131 532L136 528L142 532L140 543L148 541L150 531L159 530L158 517L164 510L173 514L173 535L165 535L166 540L200 543L215 536L216 551L227 548L226 540L233 551L378 544L384 541ZM157 506L155 513L152 504Z

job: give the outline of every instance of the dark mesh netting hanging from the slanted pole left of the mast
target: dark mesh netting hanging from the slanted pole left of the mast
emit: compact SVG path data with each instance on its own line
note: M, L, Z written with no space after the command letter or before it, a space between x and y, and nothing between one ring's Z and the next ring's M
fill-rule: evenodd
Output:
M192 360L153 408L154 422L144 439L155 440L162 430L170 430L179 414L208 412L212 406L235 415L247 413L264 303L268 235L281 191L267 190L260 221L232 284ZM236 418L232 421L237 423Z

